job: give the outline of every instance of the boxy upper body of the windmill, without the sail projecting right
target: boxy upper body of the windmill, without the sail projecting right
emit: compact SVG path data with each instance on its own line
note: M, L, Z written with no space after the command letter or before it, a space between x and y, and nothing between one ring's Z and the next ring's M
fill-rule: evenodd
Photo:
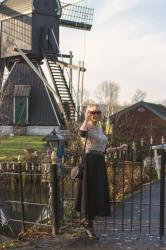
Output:
M59 0L5 0L0 4L1 58L17 56L15 44L29 54L41 56L41 47L58 54ZM54 31L55 44L51 31Z

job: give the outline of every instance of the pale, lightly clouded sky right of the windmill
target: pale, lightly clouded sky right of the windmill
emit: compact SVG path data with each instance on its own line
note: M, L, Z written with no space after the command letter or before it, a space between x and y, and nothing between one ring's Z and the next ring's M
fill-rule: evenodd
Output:
M73 52L73 64L84 61L84 88L91 97L100 83L111 80L120 86L120 103L130 102L137 89L147 93L145 101L165 100L166 0L87 0L82 5L94 8L91 31L61 28L60 48Z

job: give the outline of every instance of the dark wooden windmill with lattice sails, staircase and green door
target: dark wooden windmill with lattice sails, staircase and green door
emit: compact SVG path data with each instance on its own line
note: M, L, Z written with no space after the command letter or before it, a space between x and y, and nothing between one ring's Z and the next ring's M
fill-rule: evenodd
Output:
M93 9L59 0L0 4L0 124L32 129L66 126L75 119L75 101L64 68L85 69L64 62L68 56L59 51L59 27L88 31L92 19Z

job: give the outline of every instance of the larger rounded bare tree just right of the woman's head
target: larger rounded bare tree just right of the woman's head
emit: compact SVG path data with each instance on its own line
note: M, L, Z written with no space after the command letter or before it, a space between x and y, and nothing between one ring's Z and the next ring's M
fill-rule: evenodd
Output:
M114 113L118 104L120 87L113 81L104 81L96 89L96 97L102 106L103 114L108 116Z

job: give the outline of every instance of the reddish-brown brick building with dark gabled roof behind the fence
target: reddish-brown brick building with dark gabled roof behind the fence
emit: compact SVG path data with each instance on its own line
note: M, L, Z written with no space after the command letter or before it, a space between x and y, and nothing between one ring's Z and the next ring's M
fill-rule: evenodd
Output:
M161 144L166 141L166 107L140 101L110 116L113 144Z

